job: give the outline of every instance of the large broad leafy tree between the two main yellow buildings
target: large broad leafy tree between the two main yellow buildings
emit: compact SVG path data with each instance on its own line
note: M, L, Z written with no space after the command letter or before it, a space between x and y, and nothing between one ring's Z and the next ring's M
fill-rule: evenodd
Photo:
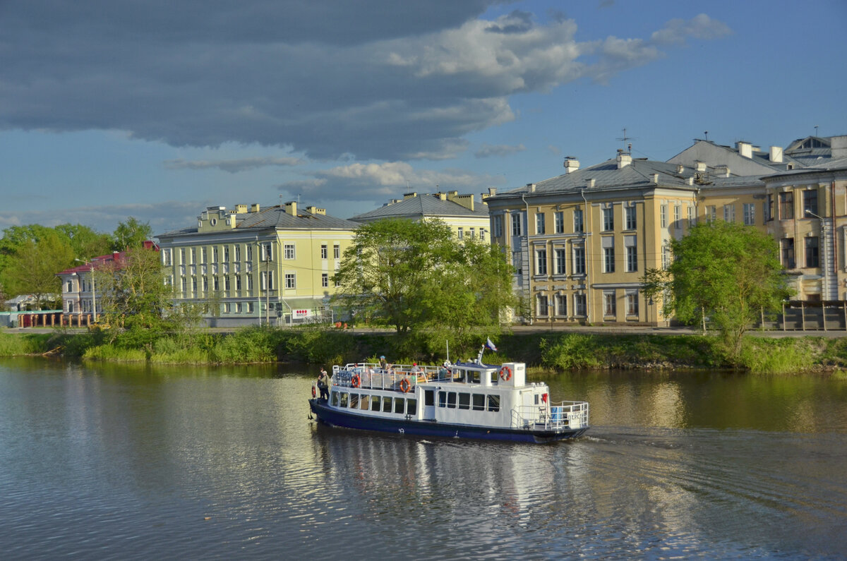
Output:
M487 244L464 245L439 220L361 226L335 275L354 317L412 329L498 325L511 302L511 266Z

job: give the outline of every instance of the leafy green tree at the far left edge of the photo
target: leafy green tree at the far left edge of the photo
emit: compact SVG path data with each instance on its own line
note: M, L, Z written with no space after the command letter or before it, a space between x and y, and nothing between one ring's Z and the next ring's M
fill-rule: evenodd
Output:
M32 294L40 308L45 296L61 292L56 273L73 261L73 250L55 231L41 231L37 240L25 236L14 253L8 255L3 286L13 295Z

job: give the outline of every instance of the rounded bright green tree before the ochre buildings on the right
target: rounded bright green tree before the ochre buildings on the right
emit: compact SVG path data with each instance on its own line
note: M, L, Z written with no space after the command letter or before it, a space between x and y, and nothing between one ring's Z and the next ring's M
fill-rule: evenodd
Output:
M694 226L670 242L673 263L648 269L645 296L663 301L663 312L688 324L711 318L737 358L741 337L762 311L776 311L791 292L771 236L751 226L715 222Z

